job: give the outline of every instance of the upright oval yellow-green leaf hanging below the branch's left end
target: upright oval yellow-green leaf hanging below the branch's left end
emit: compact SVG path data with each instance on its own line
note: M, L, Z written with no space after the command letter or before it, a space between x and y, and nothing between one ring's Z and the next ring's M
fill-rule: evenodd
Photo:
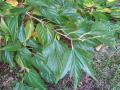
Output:
M26 40L28 40L31 37L33 31L34 31L34 24L33 24L32 20L29 20L29 21L27 21L26 26L25 26Z

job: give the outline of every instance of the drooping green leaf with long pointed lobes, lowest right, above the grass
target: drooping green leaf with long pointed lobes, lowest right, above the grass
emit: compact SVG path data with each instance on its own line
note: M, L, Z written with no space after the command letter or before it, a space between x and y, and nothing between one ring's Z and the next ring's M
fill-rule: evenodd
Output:
M69 52L66 64L67 72L70 71L71 77L74 79L74 89L77 89L77 85L80 81L81 70L85 71L91 77L94 77L94 73L92 70L92 56L89 52L84 51L83 49L77 48L71 50ZM69 69L67 69L69 68Z

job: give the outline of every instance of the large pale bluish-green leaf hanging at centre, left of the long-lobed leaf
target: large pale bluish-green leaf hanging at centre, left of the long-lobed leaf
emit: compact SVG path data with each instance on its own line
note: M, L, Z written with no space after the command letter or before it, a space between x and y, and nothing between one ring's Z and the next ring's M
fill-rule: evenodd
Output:
M55 75L54 83L57 83L61 78L61 70L63 70L62 62L64 50L64 44L59 43L57 40L45 47L45 49L43 50L43 55L47 60L47 66Z

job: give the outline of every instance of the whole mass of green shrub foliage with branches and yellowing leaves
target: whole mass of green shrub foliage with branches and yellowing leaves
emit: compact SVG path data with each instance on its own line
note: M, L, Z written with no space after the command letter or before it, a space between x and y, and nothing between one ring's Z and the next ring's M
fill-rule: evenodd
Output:
M0 0L1 60L25 70L16 88L46 90L69 73L77 89L82 70L96 79L94 47L116 44L119 20L114 0Z

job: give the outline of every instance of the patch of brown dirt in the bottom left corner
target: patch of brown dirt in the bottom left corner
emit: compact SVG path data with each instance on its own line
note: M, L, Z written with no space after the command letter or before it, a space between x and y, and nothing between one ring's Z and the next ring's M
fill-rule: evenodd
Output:
M17 69L10 69L7 64L0 62L0 90L12 90L19 80L17 73Z

